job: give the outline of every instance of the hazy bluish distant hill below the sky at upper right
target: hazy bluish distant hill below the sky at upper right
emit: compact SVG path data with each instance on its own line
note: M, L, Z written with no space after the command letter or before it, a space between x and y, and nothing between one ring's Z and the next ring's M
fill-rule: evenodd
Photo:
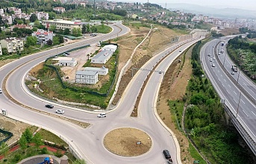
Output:
M165 4L160 4L162 7L165 7ZM243 10L237 8L214 8L214 7L205 7L196 4L166 4L167 9L169 10L181 10L185 13L196 13L203 14L205 16L213 16L217 18L225 19L256 19L256 10Z

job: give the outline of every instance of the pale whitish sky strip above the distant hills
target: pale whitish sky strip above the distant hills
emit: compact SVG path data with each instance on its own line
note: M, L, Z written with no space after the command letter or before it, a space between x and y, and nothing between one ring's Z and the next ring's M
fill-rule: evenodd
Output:
M111 0L108 0L111 1ZM146 3L148 0L113 0ZM208 6L215 8L240 8L245 10L256 10L256 0L149 0L152 4L171 4L171 3L186 3L199 4L200 6ZM168 6L167 6L168 7Z

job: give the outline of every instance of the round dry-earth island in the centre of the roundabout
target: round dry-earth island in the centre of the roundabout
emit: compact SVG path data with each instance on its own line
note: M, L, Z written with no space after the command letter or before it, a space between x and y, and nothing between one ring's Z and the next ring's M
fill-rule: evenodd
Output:
M140 144L137 144L140 142ZM144 131L136 128L118 128L104 137L104 146L113 154L134 157L149 151L152 140Z

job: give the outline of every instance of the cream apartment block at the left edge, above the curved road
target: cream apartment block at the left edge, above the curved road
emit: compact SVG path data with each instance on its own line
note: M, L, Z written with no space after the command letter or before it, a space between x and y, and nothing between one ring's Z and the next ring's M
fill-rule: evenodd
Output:
M7 38L1 40L1 47L6 47L8 53L19 53L24 50L23 41L19 38Z

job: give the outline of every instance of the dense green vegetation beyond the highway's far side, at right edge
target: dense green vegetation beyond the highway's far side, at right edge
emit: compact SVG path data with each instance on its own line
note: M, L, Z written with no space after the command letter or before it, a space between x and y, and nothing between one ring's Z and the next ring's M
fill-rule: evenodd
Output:
M237 36L228 41L227 50L243 73L256 82L256 42L249 42L248 38Z

